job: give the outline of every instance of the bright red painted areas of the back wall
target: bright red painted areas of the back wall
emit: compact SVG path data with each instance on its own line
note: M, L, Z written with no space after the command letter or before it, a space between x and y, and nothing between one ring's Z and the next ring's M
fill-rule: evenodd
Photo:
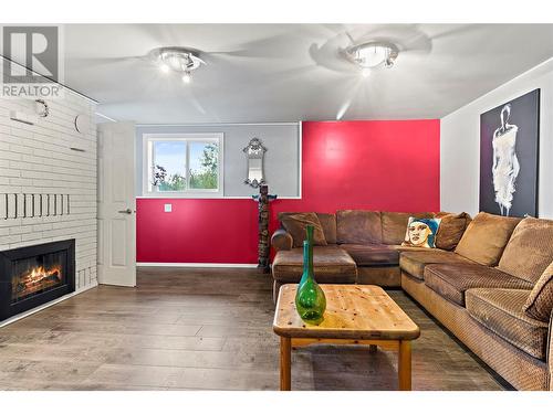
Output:
M281 211L438 211L439 139L434 119L303 123L302 199L274 201L271 227ZM257 205L139 199L137 261L257 263Z

